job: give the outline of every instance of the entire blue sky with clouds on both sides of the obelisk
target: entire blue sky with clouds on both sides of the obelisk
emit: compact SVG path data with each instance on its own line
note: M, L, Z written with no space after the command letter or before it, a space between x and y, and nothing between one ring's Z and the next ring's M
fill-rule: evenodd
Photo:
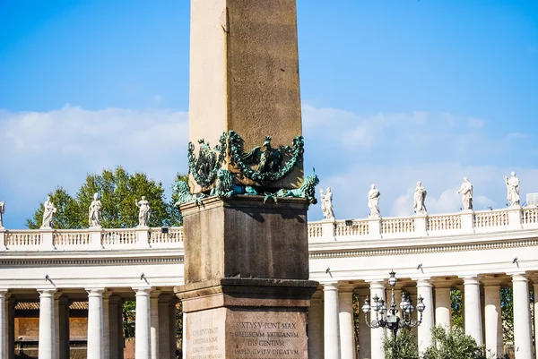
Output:
M167 188L187 170L189 2L0 2L0 200L24 226L56 185L123 165ZM307 168L337 218L505 206L538 192L538 2L298 0ZM311 219L321 218L313 208Z

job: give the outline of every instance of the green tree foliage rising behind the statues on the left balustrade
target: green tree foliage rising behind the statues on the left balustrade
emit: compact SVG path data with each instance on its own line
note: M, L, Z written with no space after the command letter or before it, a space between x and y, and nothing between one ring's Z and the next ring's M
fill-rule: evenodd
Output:
M185 175L176 175L177 180ZM101 226L105 228L130 228L138 225L138 208L135 201L142 196L150 202L152 215L150 227L179 226L181 216L174 206L174 199L167 202L161 183L148 179L143 173L131 175L122 167L103 170L101 174L88 174L84 183L74 197L62 187L50 192L51 201L58 209L53 219L53 227L58 229L80 229L89 227L88 208L93 200L93 193L100 194L103 209ZM173 197L173 196L172 196ZM36 229L41 226L43 203L39 203L32 218L27 219L27 226Z

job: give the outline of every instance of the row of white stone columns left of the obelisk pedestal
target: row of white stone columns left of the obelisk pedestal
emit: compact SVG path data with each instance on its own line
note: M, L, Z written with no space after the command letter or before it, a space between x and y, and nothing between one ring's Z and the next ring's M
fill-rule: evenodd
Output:
M88 293L88 359L123 359L123 299L105 287ZM174 295L152 287L133 288L136 298L135 357L176 359ZM38 289L39 359L69 359L69 298L56 289ZM14 305L0 289L0 359L14 358ZM13 296L12 296L13 299Z

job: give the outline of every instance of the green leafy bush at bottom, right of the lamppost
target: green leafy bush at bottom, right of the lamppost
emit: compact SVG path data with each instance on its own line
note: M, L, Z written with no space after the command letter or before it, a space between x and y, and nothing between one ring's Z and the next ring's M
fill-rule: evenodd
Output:
M476 344L473 337L465 335L461 327L431 329L433 344L422 356L423 359L486 359L482 346Z

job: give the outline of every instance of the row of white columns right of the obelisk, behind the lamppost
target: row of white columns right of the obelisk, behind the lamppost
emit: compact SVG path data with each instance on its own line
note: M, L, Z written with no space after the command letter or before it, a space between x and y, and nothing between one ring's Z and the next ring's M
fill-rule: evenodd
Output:
M524 272L508 273L502 280L496 276L465 276L461 278L416 278L400 280L395 296L407 291L413 304L417 296L424 298L426 309L421 325L416 329L419 352L432 344L434 325L451 326L451 288L462 288L465 333L479 346L485 346L487 355L503 354L503 336L500 308L500 285L511 281L514 295L514 348L516 359L534 358L538 351L538 333L533 334L531 303L529 303L529 276ZM463 287L461 286L463 282ZM361 283L334 281L322 283L312 297L308 310L308 357L310 359L384 359L383 338L385 329L370 329L364 314L359 315L359 333L353 332L352 295L359 295L360 305L368 295L377 295L390 302L390 286L386 280L369 280ZM538 277L534 277L534 294L538 293ZM538 312L538 298L534 295L534 312ZM399 304L399 299L396 300ZM390 303L388 303L389 305ZM387 305L387 306L388 306ZM417 313L414 313L416 319ZM375 315L369 316L369 320ZM538 318L534 315L534 328ZM358 338L359 343L355 343ZM357 350L357 344L359 350Z

